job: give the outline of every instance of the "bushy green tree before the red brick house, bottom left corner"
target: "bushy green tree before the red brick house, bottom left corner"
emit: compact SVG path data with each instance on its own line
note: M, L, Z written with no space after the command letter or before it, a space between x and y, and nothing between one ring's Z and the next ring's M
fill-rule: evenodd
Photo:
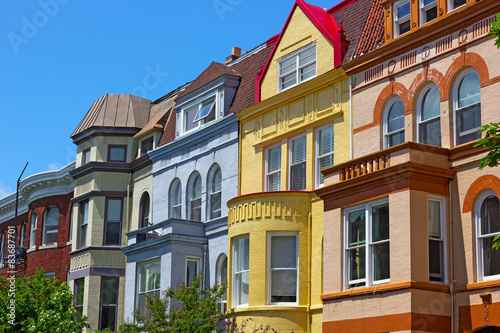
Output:
M77 318L66 283L35 275L0 277L0 332L77 333L89 327Z

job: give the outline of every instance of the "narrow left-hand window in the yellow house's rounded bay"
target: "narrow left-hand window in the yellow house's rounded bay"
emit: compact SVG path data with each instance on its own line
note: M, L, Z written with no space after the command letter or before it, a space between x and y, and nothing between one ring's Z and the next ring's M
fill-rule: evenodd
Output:
M233 304L248 304L249 292L249 237L233 241Z

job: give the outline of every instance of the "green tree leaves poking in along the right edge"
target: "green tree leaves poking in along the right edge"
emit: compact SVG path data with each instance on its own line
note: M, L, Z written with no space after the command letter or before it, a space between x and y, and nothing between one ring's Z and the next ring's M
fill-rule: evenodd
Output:
M495 36L495 45L500 48L500 14L497 15L497 20L491 22L490 34ZM488 154L481 159L479 170L485 167L498 166L500 159L500 123L491 123L484 125L479 133L485 133L484 138L478 141L474 147L489 148ZM500 248L500 235L495 236L493 239L493 248Z

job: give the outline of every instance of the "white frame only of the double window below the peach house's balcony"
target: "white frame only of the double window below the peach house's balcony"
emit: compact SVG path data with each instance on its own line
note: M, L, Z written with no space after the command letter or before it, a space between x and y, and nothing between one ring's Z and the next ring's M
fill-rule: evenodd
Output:
M377 244L382 244L382 243L389 243L389 249L390 249L390 243L391 243L391 238L390 238L390 207L389 207L389 239L387 240L382 240L382 241L377 241L377 242L372 242L372 230L371 230L371 224L372 224L372 215L371 215L371 208L374 206L380 206L383 204L387 204L389 207L389 199L380 199L380 200L375 200L375 201L370 201L366 204L362 205L357 205L353 207L349 207L348 209L344 210L344 290L349 290L353 288L358 288L358 287L349 287L350 284L353 283L364 283L364 285L359 286L360 288L364 287L371 287L371 286L377 286L381 284L387 284L391 282L390 277L388 279L383 279L383 280L374 280L373 279L373 252L372 248L374 245ZM348 216L350 212L357 211L357 210L362 210L364 209L365 211L365 244L362 245L365 247L365 278L364 279L358 279L354 281L349 281L349 257L347 255L347 252L349 250L348 244L349 244L349 227L348 227ZM390 251L390 250L389 250ZM391 254L389 252L389 269L390 269L390 259L391 259ZM389 271L390 275L390 271Z

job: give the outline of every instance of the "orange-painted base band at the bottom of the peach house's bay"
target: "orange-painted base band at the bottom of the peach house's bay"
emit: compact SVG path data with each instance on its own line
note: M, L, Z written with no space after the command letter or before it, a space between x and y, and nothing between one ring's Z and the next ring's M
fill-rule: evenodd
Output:
M324 321L323 332L397 332L397 331L451 332L451 317L423 313L397 313L336 321Z

